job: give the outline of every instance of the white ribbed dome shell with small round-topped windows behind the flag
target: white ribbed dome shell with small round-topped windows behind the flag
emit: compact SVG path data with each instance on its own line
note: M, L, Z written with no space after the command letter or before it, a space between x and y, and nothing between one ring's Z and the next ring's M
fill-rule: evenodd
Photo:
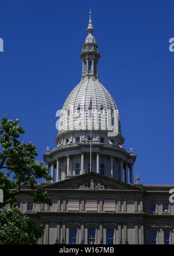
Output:
M121 134L120 121L108 128L109 120L114 116L117 106L107 89L97 79L92 77L81 80L68 95L61 110L59 134L66 131L89 129L89 103L92 99L92 129L112 131L118 125Z

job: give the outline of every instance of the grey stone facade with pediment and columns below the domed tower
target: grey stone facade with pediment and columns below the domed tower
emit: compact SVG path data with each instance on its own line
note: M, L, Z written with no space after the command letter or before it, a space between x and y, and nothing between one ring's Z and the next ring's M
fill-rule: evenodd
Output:
M89 172L60 182L37 185L48 193L52 206L33 204L32 191L23 186L18 198L20 210L38 225L45 226L39 244L70 243L70 230L75 242L88 244L88 230L95 230L94 243L107 243L107 230L113 230L114 244L151 244L151 232L157 232L157 244L164 244L164 232L174 244L174 204L169 203L169 190L174 186L134 185ZM25 193L26 192L26 193ZM30 193L30 195L28 194ZM155 211L151 211L155 204ZM163 206L168 205L164 211Z

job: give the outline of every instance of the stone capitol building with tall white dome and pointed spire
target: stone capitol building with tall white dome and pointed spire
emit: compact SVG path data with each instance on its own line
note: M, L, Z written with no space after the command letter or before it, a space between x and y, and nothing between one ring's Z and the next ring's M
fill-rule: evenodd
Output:
M52 206L34 203L26 185L17 205L45 226L39 244L174 244L174 185L144 185L133 174L137 156L124 149L117 106L99 81L93 30L90 12L81 81L64 102L55 149L43 154L53 181L36 189Z

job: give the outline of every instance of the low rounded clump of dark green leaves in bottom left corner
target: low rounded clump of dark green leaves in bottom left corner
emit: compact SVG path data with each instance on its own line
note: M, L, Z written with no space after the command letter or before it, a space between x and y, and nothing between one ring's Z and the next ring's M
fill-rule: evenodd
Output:
M37 244L44 227L36 225L18 209L0 211L0 244Z

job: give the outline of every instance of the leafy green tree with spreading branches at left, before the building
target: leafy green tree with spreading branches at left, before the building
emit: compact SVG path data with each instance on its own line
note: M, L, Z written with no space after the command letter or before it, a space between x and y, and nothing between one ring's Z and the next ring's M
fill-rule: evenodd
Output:
M34 203L41 202L48 205L52 205L51 200L48 198L45 192L37 190L35 185L37 184L37 179L45 178L46 181L52 180L52 177L49 175L48 169L41 163L41 161L36 161L35 157L38 156L36 147L32 143L20 142L20 137L24 134L24 129L19 124L19 120L15 121L8 120L7 117L3 117L1 120L0 127L0 189L3 190L3 203L0 203L0 208L5 207L6 204L9 204L11 208L14 208L17 202L17 195L21 193L21 185L28 185L32 189L33 201ZM9 178L12 174L12 178ZM26 193L26 192L25 192ZM22 217L23 216L23 217ZM14 217L14 218L13 218ZM4 218L11 218L14 220L24 219L24 215L19 212L17 209L11 211L2 210L0 221ZM3 222L2 222L3 223ZM8 226L9 222L4 222ZM31 225L30 221L24 222L25 225ZM1 224L2 225L2 224ZM6 229L8 228L6 226ZM13 231L16 226L16 221L13 222ZM31 225L32 232L30 232L30 227L28 226L28 232L32 233L35 236L35 239L38 240L41 235L42 228L36 226L34 223ZM2 226L0 226L1 230ZM4 228L4 226L3 226ZM38 231L37 231L38 228ZM16 226L16 233L21 233L22 230L19 229L19 226ZM20 231L21 232L20 232ZM29 231L30 230L30 231ZM11 232L11 231L9 231ZM27 232L26 232L27 234ZM26 235L27 236L27 235ZM6 243L12 243L11 240L8 240L10 236L6 237ZM2 233L0 234L0 240L2 239ZM33 238L34 239L34 238ZM3 239L4 241L4 239ZM19 237L19 243L30 243L34 241L28 238L24 239L24 235ZM16 240L14 241L16 243Z

